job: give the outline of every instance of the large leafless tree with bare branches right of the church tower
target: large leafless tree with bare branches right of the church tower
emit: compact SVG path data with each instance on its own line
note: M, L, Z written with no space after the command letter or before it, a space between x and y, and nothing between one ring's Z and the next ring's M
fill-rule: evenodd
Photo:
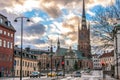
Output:
M106 8L96 8L95 16L92 16L94 24L92 25L91 34L94 38L93 43L98 43L97 41L99 39L102 44L99 46L93 45L95 49L102 50L113 48L112 31L117 18L120 18L120 4L113 4Z

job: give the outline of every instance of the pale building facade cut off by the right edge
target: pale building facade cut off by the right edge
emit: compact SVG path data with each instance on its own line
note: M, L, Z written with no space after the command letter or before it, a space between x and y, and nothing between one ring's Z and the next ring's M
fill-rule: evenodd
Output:
M120 79L120 23L114 28L115 77Z

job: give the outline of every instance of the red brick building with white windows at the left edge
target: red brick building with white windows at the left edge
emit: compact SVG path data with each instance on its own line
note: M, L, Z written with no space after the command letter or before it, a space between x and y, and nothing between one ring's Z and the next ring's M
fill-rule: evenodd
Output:
M12 75L14 33L10 21L0 14L0 77Z

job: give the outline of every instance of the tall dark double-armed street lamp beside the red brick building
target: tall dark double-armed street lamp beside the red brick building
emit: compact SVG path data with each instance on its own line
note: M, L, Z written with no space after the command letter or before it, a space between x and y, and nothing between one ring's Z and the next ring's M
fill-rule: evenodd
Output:
M27 17L17 17L15 18L15 22L18 21L18 19L21 20L21 55L20 55L20 80L22 80L22 49L23 49L23 20L27 19L28 22L30 22L29 18Z

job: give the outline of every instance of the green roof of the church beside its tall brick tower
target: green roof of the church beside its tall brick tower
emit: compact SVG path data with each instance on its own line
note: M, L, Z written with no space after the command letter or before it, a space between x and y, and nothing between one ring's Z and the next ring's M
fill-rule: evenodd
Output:
M68 50L69 49L66 49L66 48L59 48L57 51L56 51L56 56L65 56L66 53L68 53ZM77 58L79 60L81 59L87 59L86 57L83 57L82 56L82 52L78 51L78 50L72 50L73 53L77 56Z

